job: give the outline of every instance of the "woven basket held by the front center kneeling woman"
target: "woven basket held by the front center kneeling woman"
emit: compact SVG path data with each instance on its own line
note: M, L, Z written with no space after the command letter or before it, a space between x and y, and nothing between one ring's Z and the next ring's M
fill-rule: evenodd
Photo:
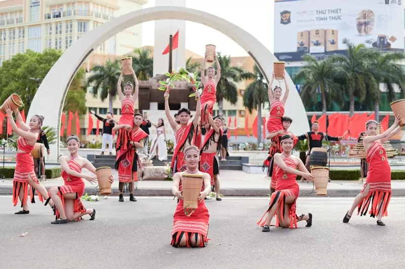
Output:
M183 190L183 209L186 216L191 216L198 208L198 197L203 186L202 174L182 174L181 186Z

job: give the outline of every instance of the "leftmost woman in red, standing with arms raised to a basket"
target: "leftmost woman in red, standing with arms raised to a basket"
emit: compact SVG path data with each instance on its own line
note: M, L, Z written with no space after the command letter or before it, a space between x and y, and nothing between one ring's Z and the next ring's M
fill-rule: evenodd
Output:
M5 108L7 113L7 119L10 122L11 128L19 136L17 139L17 154L16 154L16 169L13 179L13 204L18 203L20 198L22 210L15 214L29 214L28 210L28 185L31 186L30 198L31 203L35 203L34 195L35 191L38 193L39 201L44 202L44 199L48 199L47 190L38 183L34 168L34 159L32 159L31 152L34 149L34 145L39 138L39 133L42 132L41 126L44 121L44 117L40 115L34 115L29 120L29 126L23 121L21 115L16 110L16 119L20 128L17 127L16 122L13 119L13 111L9 106ZM50 206L55 213L55 205L53 201L49 202Z

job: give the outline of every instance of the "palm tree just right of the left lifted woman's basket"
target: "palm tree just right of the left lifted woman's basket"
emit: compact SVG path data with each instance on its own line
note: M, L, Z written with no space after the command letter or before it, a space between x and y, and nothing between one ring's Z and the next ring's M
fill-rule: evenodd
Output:
M136 56L132 57L132 67L138 80L148 80L153 76L153 58L150 50L135 49Z

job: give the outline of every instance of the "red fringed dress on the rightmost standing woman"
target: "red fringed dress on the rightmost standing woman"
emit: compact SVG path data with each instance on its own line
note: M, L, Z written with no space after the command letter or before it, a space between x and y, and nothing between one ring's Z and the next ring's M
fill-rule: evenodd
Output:
M369 195L358 204L358 213L366 215L369 211L371 217L376 217L380 210L382 216L388 215L388 204L391 199L391 167L389 166L387 154L384 146L380 142L373 142L367 151L367 162L369 163L369 171L367 173L366 184L363 187L363 192L367 185L370 185ZM383 200L380 206L380 201Z

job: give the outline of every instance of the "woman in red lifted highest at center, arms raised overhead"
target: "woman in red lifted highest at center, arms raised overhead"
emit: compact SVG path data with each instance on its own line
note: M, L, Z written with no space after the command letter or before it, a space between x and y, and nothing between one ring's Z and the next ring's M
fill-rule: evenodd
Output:
M204 91L201 95L201 134L204 136L207 129L210 127L208 123L208 113L213 113L213 107L217 101L217 84L221 78L221 66L219 65L217 55L214 54L217 64L217 75L215 75L215 68L210 66L207 68L207 77L204 75L206 70L207 53L204 57L204 62L201 65L201 82L204 85Z

